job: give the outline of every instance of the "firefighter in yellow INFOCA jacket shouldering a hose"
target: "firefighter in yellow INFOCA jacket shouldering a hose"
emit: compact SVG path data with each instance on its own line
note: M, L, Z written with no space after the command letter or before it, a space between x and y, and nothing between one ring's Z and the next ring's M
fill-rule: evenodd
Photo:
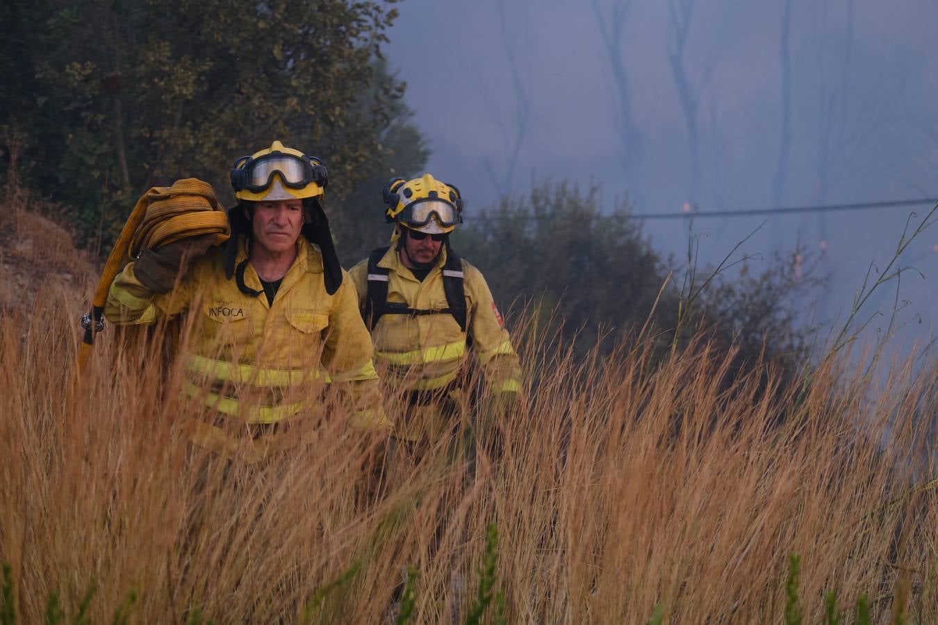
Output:
M207 408L192 424L196 444L250 461L295 443L291 426L328 381L350 396L353 426L391 426L332 245L326 180L318 158L274 141L234 163L225 246L196 236L145 249L113 281L105 316L115 324L197 316L184 389Z

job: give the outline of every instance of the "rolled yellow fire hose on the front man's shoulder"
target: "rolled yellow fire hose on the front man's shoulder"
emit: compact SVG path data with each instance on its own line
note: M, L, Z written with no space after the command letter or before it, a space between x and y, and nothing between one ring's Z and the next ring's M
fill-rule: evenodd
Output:
M104 305L117 273L144 249L161 246L203 234L214 234L218 246L231 236L228 215L215 198L211 185L196 178L177 180L172 186L154 186L144 193L130 212L127 223L104 263L91 311L82 318L84 336L78 350L78 371L95 344L95 335L104 330Z

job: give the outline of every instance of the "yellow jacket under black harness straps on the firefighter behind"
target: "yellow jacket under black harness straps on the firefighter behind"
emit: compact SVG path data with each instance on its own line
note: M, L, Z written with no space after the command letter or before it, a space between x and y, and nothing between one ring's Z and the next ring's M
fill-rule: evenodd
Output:
M403 303L415 309L442 310L448 306L443 287L441 258L421 282L405 267L398 252L391 246L378 262L390 270L387 301ZM375 359L386 365L386 382L404 390L429 391L440 389L460 373L468 354L467 334L472 338L486 381L493 391L517 392L521 369L518 355L502 324L492 300L492 291L481 272L462 260L463 288L466 296L466 332L447 313L438 315L383 315L371 332ZM358 305L364 307L368 296L368 259L349 272L358 291Z

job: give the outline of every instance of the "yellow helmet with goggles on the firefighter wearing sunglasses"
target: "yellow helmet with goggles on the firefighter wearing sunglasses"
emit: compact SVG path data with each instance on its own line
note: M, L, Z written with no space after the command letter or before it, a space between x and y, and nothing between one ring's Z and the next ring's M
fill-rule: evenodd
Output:
M429 173L413 180L392 178L382 195L388 223L429 234L451 232L462 223L460 190Z

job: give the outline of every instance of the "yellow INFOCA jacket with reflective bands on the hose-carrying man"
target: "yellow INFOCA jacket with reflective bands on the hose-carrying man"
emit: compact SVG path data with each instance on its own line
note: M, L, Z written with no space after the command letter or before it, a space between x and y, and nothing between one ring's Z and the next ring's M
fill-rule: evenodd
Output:
M242 239L235 264L246 258ZM318 383L322 389L331 381L342 384L355 401L353 426L390 427L381 408L371 336L358 312L354 287L343 272L339 290L326 293L322 256L305 238L299 239L296 259L273 305L267 304L263 292L250 297L238 290L234 279L225 277L219 247L197 260L189 275L165 295L144 287L133 270L130 262L114 278L108 294L104 314L114 324L153 323L199 306L194 353L188 363L196 382L187 386L191 396L248 423L276 424L303 409L299 397L290 397L291 387ZM250 263L244 281L250 289L263 290ZM251 401L242 402L241 395ZM200 444L216 449L238 444L222 441L220 430L211 432L205 425L200 425L204 436L196 439L214 442L196 440Z

